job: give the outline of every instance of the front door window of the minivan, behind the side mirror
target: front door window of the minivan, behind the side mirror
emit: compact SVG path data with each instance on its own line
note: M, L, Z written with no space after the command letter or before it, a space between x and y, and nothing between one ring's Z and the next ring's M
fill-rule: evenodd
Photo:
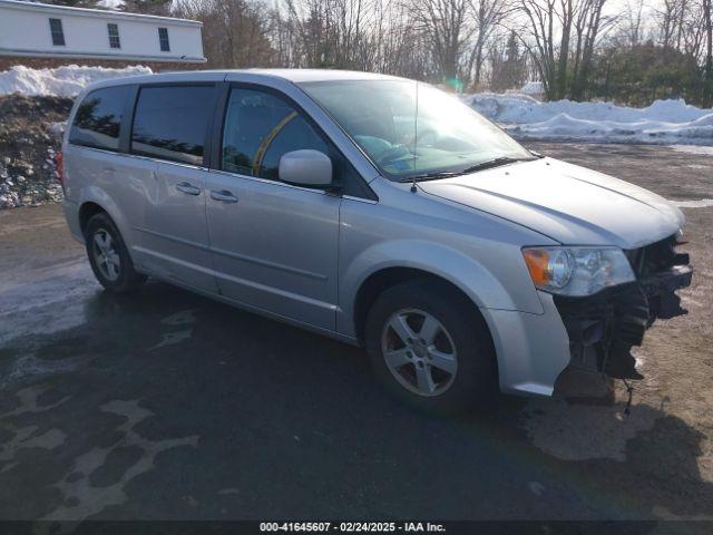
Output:
M303 148L329 154L312 126L281 98L253 89L231 90L223 128L223 171L276 181L282 155Z

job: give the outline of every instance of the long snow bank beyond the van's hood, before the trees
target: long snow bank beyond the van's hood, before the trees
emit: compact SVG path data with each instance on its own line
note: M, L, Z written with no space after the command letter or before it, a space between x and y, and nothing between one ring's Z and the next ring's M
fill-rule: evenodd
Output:
M540 103L518 94L462 98L519 139L713 145L713 109L682 99L629 108L612 103Z

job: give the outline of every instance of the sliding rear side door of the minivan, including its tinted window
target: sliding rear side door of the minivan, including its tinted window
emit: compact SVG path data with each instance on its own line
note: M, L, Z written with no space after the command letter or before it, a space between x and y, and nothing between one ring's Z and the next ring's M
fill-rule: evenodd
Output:
M160 278L206 291L216 291L203 160L214 91L213 85L143 87L130 147L155 165L141 184L141 263Z

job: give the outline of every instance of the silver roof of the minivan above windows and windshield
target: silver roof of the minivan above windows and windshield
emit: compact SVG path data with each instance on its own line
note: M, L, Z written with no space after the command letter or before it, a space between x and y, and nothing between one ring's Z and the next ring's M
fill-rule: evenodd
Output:
M330 69L225 69L225 70L183 70L175 72L160 72L156 75L127 76L110 78L88 86L89 88L125 85L125 84L157 84L168 81L219 81L229 79L231 75L241 75L241 78L258 81L261 78L281 78L295 84L305 81L326 80L398 80L401 78L379 75L375 72L360 72L355 70Z

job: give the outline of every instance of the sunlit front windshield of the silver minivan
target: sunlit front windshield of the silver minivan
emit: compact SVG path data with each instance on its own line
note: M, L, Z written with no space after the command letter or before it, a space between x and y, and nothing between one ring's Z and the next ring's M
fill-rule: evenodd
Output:
M395 181L469 173L531 153L458 98L411 80L319 81L301 87Z

